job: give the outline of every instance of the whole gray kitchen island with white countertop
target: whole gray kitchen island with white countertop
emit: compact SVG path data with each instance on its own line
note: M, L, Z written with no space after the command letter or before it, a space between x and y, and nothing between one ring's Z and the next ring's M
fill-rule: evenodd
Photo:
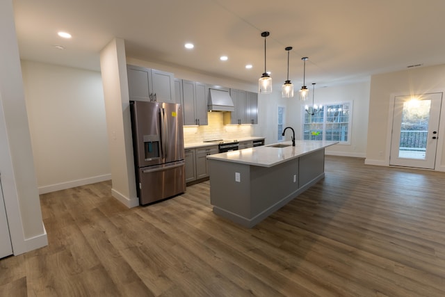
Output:
M336 143L289 141L207 156L213 212L257 225L325 177L325 147Z

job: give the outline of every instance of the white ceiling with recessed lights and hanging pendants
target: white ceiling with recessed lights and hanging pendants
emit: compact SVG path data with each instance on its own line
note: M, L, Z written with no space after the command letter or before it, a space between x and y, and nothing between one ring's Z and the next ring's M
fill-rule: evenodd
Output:
M127 56L274 87L364 81L409 65L445 63L443 0L13 0L22 59L99 70L114 37ZM63 40L58 31L72 34ZM188 50L184 43L193 42ZM56 49L62 45L65 50ZM228 61L219 57L227 55ZM246 64L252 64L250 70Z

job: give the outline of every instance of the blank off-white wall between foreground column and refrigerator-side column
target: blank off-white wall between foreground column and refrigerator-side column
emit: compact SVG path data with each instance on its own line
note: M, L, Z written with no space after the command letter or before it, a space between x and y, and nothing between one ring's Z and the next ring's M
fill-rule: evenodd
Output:
M100 72L22 61L40 193L111 179Z

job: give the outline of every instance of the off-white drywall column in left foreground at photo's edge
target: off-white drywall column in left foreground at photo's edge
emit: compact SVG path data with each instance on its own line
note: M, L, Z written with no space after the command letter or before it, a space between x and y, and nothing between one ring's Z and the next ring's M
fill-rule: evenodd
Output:
M0 170L14 255L47 246L35 179L13 1L0 1Z

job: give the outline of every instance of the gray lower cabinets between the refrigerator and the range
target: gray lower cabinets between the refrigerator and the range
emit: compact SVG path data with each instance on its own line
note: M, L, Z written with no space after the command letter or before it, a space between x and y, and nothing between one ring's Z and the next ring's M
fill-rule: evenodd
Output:
M186 149L186 182L193 182L197 179L209 177L207 156L209 156L209 154L218 154L218 152L218 145Z

